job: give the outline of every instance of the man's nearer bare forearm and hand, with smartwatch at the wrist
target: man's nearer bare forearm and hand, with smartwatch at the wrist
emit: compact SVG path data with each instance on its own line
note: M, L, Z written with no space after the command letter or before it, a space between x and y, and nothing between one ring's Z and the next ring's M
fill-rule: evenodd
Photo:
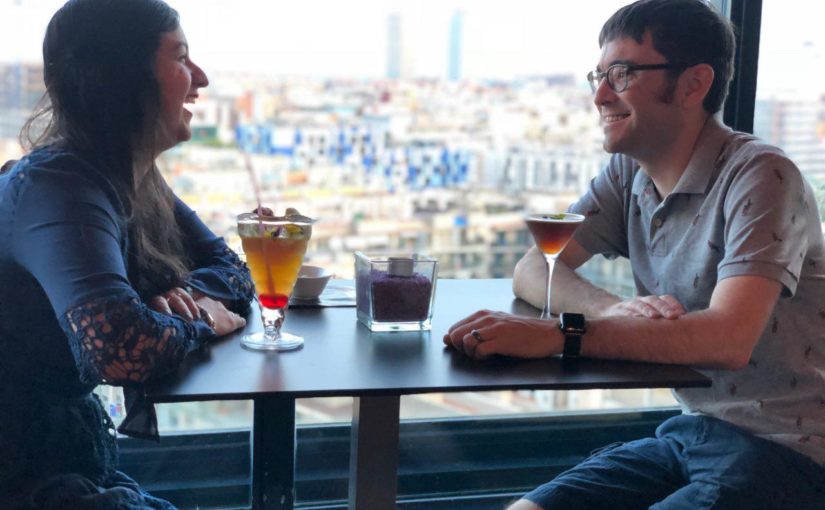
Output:
M675 320L604 317L588 320L582 355L737 370L750 359L782 285L761 276L720 281L706 310ZM478 330L478 342L472 330ZM477 312L459 321L445 343L469 356L546 357L562 351L557 321Z

